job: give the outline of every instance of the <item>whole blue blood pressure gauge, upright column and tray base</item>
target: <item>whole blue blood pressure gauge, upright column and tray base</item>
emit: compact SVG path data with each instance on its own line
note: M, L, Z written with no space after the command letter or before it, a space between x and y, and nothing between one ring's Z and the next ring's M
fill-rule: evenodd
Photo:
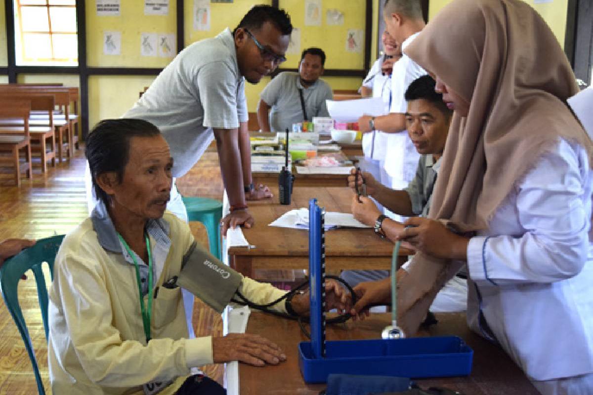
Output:
M332 373L398 377L450 377L471 372L473 350L457 336L438 338L326 339L325 210L309 201L311 341L298 345L306 383L326 383ZM380 336L377 333L377 336Z

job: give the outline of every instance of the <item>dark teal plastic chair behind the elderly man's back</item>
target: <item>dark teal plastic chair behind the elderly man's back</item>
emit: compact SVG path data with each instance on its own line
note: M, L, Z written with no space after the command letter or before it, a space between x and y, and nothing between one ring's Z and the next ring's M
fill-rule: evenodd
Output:
M63 238L64 236L60 235L37 240L37 243L35 243L34 246L7 259L7 261L4 262L4 265L0 268L0 290L2 291L6 307L8 308L8 311L10 311L12 319L14 319L14 322L17 325L18 332L21 333L21 337L25 343L25 348L31 359L31 365L33 365L35 380L37 381L37 390L41 395L45 395L45 390L43 389L43 382L41 380L41 375L39 374L39 368L37 367L37 359L33 352L27 324L23 318L23 311L21 311L20 304L18 303L18 282L28 269L33 271L35 282L37 283L37 296L39 297L43 329L45 330L45 339L47 341L49 333L49 327L47 325L48 301L42 263L47 262L47 264L49 264L49 271L53 280L53 261L56 259L56 254L58 253L60 244L62 244Z

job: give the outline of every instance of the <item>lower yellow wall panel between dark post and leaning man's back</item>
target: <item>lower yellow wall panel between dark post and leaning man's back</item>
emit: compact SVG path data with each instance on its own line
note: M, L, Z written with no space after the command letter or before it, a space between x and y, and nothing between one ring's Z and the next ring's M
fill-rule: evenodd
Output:
M91 76L88 79L88 125L106 118L119 118L149 86L152 76Z

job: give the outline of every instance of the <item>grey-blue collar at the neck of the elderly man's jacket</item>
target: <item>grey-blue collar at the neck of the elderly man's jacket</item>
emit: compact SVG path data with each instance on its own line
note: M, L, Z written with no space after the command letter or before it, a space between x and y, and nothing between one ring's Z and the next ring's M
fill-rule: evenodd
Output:
M103 201L99 201L91 213L91 222L93 223L93 229L97 233L97 239L101 247L107 251L114 253L121 253L125 257L127 262L133 264L133 259L127 253L126 248L122 245L117 237L117 232L109 217L109 211ZM157 242L157 244L169 248L171 245L171 239L169 238L170 225L169 223L160 218L157 220L148 220L146 222L146 233Z

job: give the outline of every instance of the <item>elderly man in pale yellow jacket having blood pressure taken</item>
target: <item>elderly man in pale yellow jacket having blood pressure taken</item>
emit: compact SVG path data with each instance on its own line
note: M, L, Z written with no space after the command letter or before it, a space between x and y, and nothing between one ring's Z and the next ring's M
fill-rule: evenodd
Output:
M187 224L165 212L173 159L160 131L142 120L101 121L88 136L86 155L100 202L66 235L55 261L48 346L53 393L219 394L224 388L190 369L284 361L283 351L260 336L187 339L175 282L201 248ZM224 270L254 303L285 294ZM334 288L335 282L326 287L329 307L342 308ZM208 293L216 287L203 297ZM287 299L271 309L307 313L307 293Z

